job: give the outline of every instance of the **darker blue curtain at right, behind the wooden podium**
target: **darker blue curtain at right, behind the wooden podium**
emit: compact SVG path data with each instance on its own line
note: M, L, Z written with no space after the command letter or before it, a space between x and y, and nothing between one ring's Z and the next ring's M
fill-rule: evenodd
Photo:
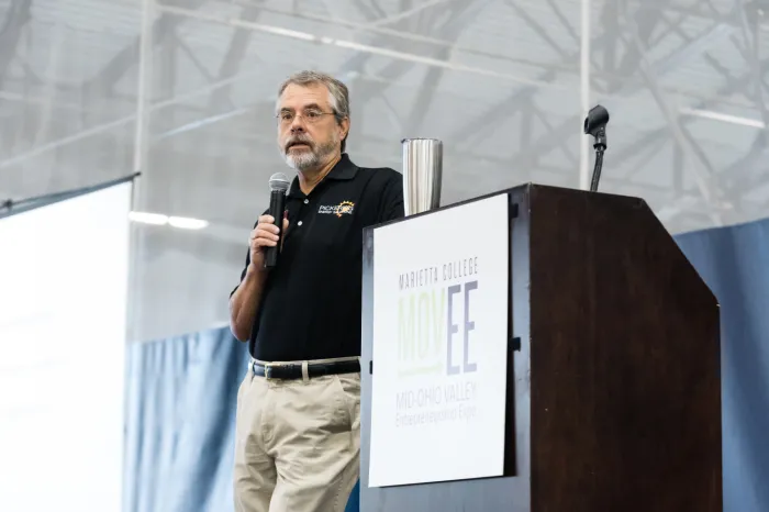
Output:
M724 511L769 511L769 219L677 241L721 303Z

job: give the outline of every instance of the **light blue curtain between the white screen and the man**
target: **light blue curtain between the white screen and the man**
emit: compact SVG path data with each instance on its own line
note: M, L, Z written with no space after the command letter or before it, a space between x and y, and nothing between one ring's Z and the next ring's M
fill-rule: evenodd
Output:
M231 512L248 353L227 327L127 347L123 512ZM358 489L346 512L358 511Z

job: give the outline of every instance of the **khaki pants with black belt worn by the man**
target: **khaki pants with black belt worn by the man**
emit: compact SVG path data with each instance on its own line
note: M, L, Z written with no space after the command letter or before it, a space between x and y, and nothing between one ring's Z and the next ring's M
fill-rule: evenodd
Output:
M248 369L237 392L236 512L343 512L359 454L360 374L278 380Z

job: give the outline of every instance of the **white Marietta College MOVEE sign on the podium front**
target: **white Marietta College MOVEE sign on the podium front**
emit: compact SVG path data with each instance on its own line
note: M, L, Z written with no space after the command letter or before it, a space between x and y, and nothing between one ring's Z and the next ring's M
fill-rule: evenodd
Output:
M503 475L508 194L374 231L369 487Z

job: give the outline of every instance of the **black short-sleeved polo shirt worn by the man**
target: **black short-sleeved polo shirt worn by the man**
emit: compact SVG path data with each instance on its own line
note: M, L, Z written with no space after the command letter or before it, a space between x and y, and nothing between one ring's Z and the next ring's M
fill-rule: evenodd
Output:
M266 361L359 356L363 230L403 216L402 176L358 167L343 154L310 194L294 178L287 210L289 229L248 349Z

